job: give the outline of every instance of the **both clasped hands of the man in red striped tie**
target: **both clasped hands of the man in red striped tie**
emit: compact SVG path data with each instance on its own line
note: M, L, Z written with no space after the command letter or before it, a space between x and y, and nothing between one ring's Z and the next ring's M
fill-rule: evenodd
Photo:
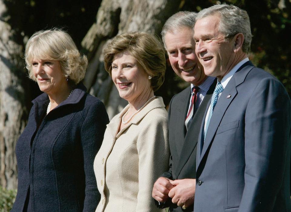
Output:
M172 203L188 207L194 203L196 179L170 180L160 177L152 189L152 197L159 202L172 198Z

